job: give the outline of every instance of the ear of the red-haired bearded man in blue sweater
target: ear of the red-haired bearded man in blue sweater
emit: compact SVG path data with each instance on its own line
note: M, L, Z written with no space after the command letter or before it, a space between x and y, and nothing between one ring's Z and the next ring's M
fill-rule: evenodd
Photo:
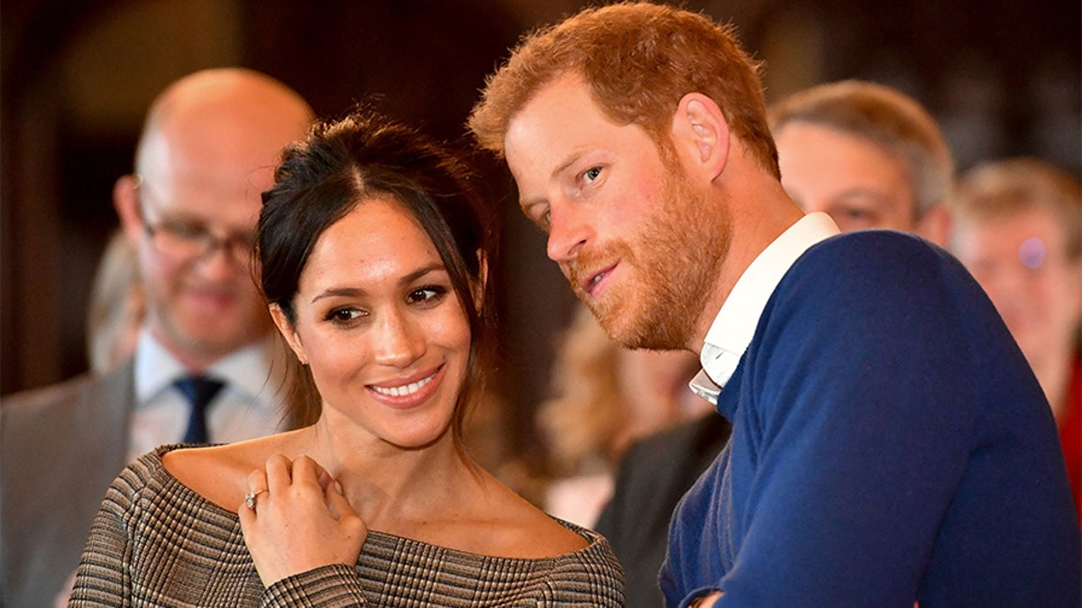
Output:
M684 95L673 115L672 138L688 171L713 182L729 157L729 123L713 100Z

